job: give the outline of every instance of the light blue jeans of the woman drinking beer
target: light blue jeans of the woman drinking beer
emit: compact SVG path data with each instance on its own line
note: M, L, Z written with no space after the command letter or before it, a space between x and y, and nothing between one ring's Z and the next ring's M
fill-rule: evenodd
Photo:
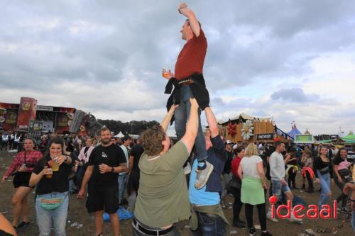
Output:
M40 206L39 198L58 198L66 196L59 208L54 210L45 210ZM65 225L67 225L67 206L68 206L68 192L64 193L47 193L38 195L35 199L35 213L37 218L37 225L40 236L50 236L50 229L52 228L52 220L54 232L56 236L65 236Z

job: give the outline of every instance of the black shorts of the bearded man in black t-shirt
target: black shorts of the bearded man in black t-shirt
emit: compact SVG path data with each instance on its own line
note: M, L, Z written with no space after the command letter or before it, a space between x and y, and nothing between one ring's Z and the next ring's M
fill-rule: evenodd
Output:
M87 212L104 210L108 214L119 209L119 183L109 185L89 184L87 187Z

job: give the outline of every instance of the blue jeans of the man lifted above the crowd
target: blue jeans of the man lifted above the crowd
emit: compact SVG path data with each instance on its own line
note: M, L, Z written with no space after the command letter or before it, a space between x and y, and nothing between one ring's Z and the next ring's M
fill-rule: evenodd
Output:
M190 98L193 97L190 86L182 86L180 95L180 104L175 109L175 131L178 140L185 135L186 122L190 116L191 103ZM206 143L204 142L204 135L201 126L201 110L199 109L199 130L195 141L195 157L199 160L207 159Z

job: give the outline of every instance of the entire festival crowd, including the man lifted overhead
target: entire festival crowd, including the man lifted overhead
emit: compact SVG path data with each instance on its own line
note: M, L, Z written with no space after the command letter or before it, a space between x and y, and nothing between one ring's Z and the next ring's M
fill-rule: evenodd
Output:
M135 236L180 235L175 224L181 220L189 220L196 236L229 235L231 225L248 227L249 235L256 235L256 206L261 235L271 236L267 219L273 223L278 219L271 217L266 197L277 196L279 204L295 201L293 189L300 188L295 181L299 173L301 188L307 193L317 194L314 179L320 184L320 209L332 198L330 183L334 179L342 191L337 197L342 203L339 210L348 212L346 203L355 201L355 191L349 191L355 185L346 149L333 153L325 146L286 147L280 141L235 144L222 137L202 75L207 40L195 13L186 4L178 11L187 18L181 30L187 43L178 56L175 74L163 70L168 79L165 93L171 96L160 125L145 130L138 140L129 136L116 139L107 127L97 137L44 135L37 148L35 140L23 137L24 150L18 152L2 178L5 181L14 175L13 228L21 230L30 224L27 198L35 188L41 236L50 235L52 227L55 235L66 235L71 193L77 194L77 201L87 198L87 212L94 214L97 236L104 234L104 213L109 215L112 234L120 235L119 206L133 211ZM202 111L209 127L205 132L200 122ZM175 144L166 133L174 120ZM1 149L13 148L11 139L15 142L18 136L9 135L1 135ZM228 193L234 196L232 207L226 201ZM355 227L355 204L351 207ZM224 208L233 208L232 223ZM288 220L302 223L293 213Z

